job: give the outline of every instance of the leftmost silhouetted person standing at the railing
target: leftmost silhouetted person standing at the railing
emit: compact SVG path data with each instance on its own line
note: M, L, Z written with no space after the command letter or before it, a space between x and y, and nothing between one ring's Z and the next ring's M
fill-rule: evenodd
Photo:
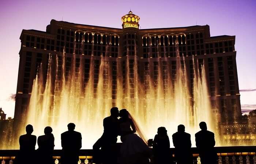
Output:
M32 125L26 126L26 134L19 137L20 151L18 154L17 163L19 164L32 164L34 163L35 156L35 144L37 143L37 137L31 135L34 131ZM31 157L27 159L27 157Z

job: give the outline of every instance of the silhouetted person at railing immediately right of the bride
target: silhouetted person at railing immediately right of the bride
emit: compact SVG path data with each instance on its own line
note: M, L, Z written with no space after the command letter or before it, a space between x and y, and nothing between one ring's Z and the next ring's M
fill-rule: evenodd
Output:
M153 152L155 164L170 164L172 163L172 153L170 153L170 140L165 127L157 129L153 141Z

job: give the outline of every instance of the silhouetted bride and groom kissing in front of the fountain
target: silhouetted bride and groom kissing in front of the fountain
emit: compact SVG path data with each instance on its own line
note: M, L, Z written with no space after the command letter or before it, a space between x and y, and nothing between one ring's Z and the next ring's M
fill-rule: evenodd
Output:
M126 109L118 111L117 107L113 107L110 113L103 119L102 136L93 145L93 163L149 164L151 150L135 119ZM121 136L122 141L119 150L117 136Z

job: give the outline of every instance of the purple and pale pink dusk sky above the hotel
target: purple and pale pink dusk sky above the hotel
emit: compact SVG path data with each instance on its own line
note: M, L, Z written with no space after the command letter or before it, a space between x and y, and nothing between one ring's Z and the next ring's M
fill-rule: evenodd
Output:
M236 35L239 87L243 109L256 109L255 0L8 0L0 1L0 107L13 117L20 33L45 31L51 19L121 28L129 9L140 16L141 28L210 25L211 36Z

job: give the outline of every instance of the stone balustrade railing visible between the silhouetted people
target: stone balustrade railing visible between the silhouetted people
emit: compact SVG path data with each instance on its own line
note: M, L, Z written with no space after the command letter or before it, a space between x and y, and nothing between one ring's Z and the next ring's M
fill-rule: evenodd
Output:
M170 148L170 152L174 151L174 148ZM216 147L216 151L219 157L218 164L256 164L256 146ZM192 152L194 164L201 164L198 149L192 148ZM18 150L0 150L1 164L14 163L17 153ZM53 151L53 163L60 164L60 155L61 150ZM78 164L91 164L93 162L93 151L91 149L82 149L79 152L79 158Z

